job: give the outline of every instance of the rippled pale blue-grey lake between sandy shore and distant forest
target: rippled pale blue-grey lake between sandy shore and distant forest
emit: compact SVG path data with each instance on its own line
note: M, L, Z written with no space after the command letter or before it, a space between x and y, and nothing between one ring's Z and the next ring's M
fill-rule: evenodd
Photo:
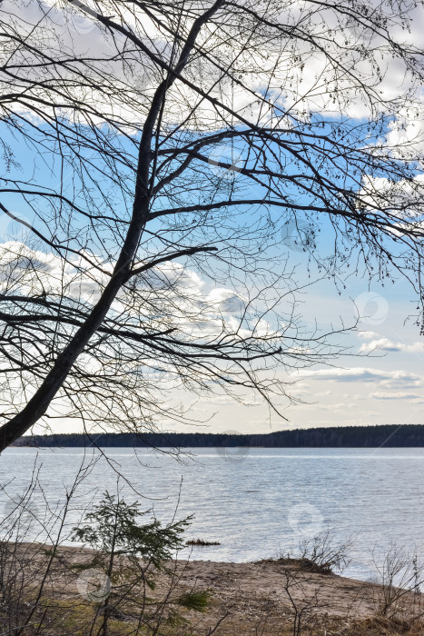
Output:
M187 539L221 543L194 548L192 559L254 561L295 552L302 539L326 528L336 539L355 535L346 574L356 578L373 575L372 550L382 554L392 541L424 555L422 448L208 448L180 462L147 449L105 452L107 459L80 448L7 449L0 458L0 512L10 512L10 498L24 492L35 466L43 490L35 488L33 501L41 511L45 497L54 510L80 464L94 455L67 527L93 497L116 492L120 472L128 502L140 499L163 522L193 514Z

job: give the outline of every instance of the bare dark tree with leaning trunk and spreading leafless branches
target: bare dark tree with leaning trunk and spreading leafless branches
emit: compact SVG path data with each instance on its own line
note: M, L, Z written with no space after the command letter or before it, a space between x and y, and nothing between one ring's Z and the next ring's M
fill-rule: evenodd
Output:
M276 365L338 353L283 304L281 237L420 291L422 3L87 3L1 5L0 450L187 421L175 386L278 409Z

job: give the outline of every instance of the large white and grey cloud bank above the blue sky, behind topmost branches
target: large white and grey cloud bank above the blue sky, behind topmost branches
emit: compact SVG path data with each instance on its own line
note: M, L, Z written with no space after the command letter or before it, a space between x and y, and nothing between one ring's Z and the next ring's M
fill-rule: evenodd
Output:
M4 0L3 5L5 15L9 16L16 30L29 38L28 45L40 46L42 43L44 53L53 58L57 54L58 45L76 55L91 56L92 68L97 67L103 78L106 76L105 73L109 72L115 81L121 78L123 82L133 85L133 88L139 86L144 94L152 94L153 84L159 75L149 57L140 51L132 53L123 35L114 33L111 38L96 24L93 15L87 15L78 8L78 3L73 5L56 0ZM84 0L84 5L88 5L92 13L98 11L97 3L94 4L91 0ZM104 15L114 15L115 8L113 2L104 0L101 10ZM258 8L258 11L261 12L261 9ZM383 13L381 21L386 20L390 35L396 37L399 45L411 37L414 42L419 42L418 16L412 23L415 29L413 28L414 35L411 36L408 31L399 28L401 20L393 12L388 11L387 7L380 5L380 11ZM376 87L385 98L384 106L381 106L385 109L389 108L390 102L396 104L399 94L403 94L412 86L412 74L400 56L392 55L387 43L375 32L365 26L362 28L360 20L352 24L349 16L345 17L340 13L338 7L325 4L312 10L311 15L309 12L310 7L306 7L304 2L282 3L280 15L277 10L272 10L272 15L269 13L267 17L281 22L284 26L281 30L281 40L275 46L272 45L272 38L267 42L266 55L261 55L260 45L256 48L253 45L245 46L243 37L232 37L230 49L228 37L220 40L221 29L218 28L215 34L212 29L205 27L200 35L199 45L203 45L206 51L209 51L209 55L219 61L228 59L235 76L240 70L245 87L232 83L228 77L221 80L221 72L217 71L217 65L208 61L208 56L195 56L195 63L186 69L187 79L198 82L201 77L202 90L205 93L218 97L223 104L233 105L237 112L256 123L273 122L276 115L271 107L267 110L258 104L257 96L265 92L271 103L280 106L283 119L286 119L284 111L287 109L291 110L291 114L305 118L309 117L310 112L347 114L353 118L360 118L370 115L370 104L365 92L359 89L361 85ZM142 27L133 13L124 5L120 5L123 23L129 25L133 32L143 39L144 44L166 59L173 44L171 37L154 25L145 13L136 12L136 15L141 17ZM182 30L187 30L191 23L192 16L186 17ZM222 24L225 25L225 19ZM227 25L224 29L226 31ZM248 31L249 29L246 34ZM285 36L282 35L282 31L286 33ZM293 37L293 33L296 32L301 36ZM363 55L363 49L368 49L370 55ZM125 64L122 64L119 55L116 55L123 50L126 51ZM252 50L256 51L255 55L251 53ZM30 60L27 51L20 52L17 49L14 55L26 55L26 63ZM97 60L95 63L94 58ZM331 60L337 61L340 66ZM382 70L380 77L376 73L375 65L379 65ZM68 70L71 66L68 65ZM250 69L249 72L246 69ZM266 76L271 71L274 74L271 86L278 86L276 89L270 88ZM45 79L41 76L44 73L42 67L33 70L29 66L28 73L34 72L40 74L40 80ZM355 77L358 79L355 80ZM88 86L89 84L84 88L87 92ZM100 94L94 90L91 96L99 104L104 102L106 112L107 109L112 109L115 114L128 114L131 110L137 122L143 119L143 108L138 109L135 103L133 108L129 105L129 101L134 99L131 90L130 94L123 94L122 103L119 105L112 104L113 100L110 104L105 104L106 94L107 92ZM171 94L172 97L165 105L165 119L174 124L185 119L184 106L192 106L197 101L197 95L181 82L175 83ZM102 107L101 105L100 108ZM376 107L379 107L378 104ZM205 100L202 100L202 114L209 129L221 124L221 118L228 118L228 114L223 110L217 116L217 111ZM406 114L402 114L402 118L405 116ZM199 122L198 116L196 122ZM390 131L396 139L399 138L399 127L400 124L393 124ZM407 141L410 136L409 134ZM393 143L394 141L395 139Z

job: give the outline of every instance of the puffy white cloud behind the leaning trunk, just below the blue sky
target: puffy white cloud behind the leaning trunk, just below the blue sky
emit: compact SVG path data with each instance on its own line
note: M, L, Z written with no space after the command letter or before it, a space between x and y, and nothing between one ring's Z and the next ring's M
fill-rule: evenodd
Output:
M28 297L44 293L62 296L65 303L84 303L86 311L90 311L99 300L114 263L103 263L95 254L88 256L93 264L85 263L81 256L66 262L58 254L43 253L25 243L0 243L0 291ZM111 315L114 312L127 324L142 322L159 331L166 325L178 329L190 342L226 335L232 340L251 338L252 334L271 338L274 334L271 324L258 318L254 304L240 293L230 288L205 289L199 273L182 263L161 263L134 276L133 283L134 293L139 293L143 302L134 303L131 293L123 288L111 307ZM288 351L289 338L288 334ZM302 352L306 354L307 350ZM163 365L161 368L169 370Z

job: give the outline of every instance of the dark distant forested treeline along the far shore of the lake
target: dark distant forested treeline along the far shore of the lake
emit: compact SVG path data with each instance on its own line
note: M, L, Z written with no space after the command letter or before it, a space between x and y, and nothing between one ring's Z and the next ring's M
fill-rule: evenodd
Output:
M257 434L169 432L54 434L21 437L15 445L201 448L251 446L264 448L367 448L424 446L424 424L330 426Z

